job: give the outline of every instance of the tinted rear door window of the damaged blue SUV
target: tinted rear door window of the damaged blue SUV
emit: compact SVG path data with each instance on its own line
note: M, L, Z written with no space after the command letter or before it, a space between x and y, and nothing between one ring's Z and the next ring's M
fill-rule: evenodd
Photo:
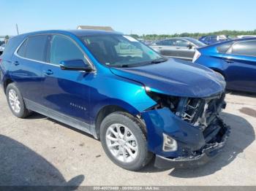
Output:
M26 41L26 51L24 57L35 61L45 61L47 38L47 35L30 36ZM19 51L22 52L22 50Z

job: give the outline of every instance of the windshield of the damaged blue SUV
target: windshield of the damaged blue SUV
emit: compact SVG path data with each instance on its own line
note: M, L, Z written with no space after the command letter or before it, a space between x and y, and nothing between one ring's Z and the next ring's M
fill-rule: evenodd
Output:
M97 61L107 66L134 67L166 61L157 52L131 36L105 34L81 38Z

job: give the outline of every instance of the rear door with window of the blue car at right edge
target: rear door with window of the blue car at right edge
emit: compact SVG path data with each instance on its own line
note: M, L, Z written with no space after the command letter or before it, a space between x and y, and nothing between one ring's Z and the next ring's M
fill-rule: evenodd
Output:
M227 87L256 92L256 40L236 42L223 55Z

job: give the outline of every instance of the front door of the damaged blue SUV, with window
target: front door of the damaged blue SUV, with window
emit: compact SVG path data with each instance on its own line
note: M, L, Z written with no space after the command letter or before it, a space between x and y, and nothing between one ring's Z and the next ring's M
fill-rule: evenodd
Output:
M48 63L42 68L44 106L89 123L89 85L94 73L61 70L59 66L61 61L88 62L83 51L73 39L61 34L51 36L48 50Z

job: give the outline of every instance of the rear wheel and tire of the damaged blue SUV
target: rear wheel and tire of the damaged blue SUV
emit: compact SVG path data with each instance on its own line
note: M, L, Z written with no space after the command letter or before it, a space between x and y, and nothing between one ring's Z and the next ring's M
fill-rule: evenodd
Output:
M18 118L25 118L29 116L30 112L28 109L26 109L23 97L20 93L20 90L18 90L18 87L16 87L15 83L7 85L6 95L7 102L12 111L12 114L14 114Z

